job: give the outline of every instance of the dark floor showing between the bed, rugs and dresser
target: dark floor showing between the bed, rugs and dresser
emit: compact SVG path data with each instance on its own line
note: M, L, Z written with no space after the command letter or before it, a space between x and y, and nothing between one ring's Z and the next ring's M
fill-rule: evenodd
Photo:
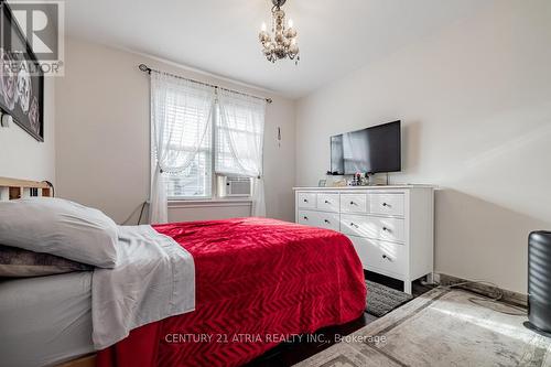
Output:
M378 282L380 284L403 290L403 283L399 280L391 279L385 276L380 276L370 271L365 271L366 279ZM413 296L419 296L424 292L428 292L433 287L423 285L420 280L413 282L412 293ZM246 367L284 367L298 364L306 358L310 358L314 354L317 354L338 341L339 336L352 334L359 328L370 324L377 320L376 316L370 315L366 312L364 314L347 324L339 326L331 326L318 330L315 334L304 337L302 341L296 341L293 343L283 343L276 348L268 350L266 354L256 358L246 365Z

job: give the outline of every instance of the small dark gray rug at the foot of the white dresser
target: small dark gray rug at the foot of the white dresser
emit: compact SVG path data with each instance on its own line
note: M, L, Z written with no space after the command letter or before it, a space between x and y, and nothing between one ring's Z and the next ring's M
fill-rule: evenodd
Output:
M386 315L413 298L408 293L369 280L366 280L366 312L377 317Z

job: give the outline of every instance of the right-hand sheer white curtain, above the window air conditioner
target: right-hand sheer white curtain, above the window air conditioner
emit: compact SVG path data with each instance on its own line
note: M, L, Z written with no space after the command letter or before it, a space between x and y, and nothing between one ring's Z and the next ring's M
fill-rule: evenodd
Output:
M266 216L262 152L266 100L218 90L215 171L252 177L252 216Z

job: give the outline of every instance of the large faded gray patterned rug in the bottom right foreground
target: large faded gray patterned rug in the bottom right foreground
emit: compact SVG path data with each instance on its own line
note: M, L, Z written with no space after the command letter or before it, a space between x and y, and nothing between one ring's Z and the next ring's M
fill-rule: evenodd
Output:
M296 366L551 366L551 338L526 320L504 303L436 288Z

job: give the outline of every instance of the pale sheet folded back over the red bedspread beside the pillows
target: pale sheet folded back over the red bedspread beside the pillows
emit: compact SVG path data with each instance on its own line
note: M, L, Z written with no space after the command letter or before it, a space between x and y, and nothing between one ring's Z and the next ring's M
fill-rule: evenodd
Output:
M94 269L91 339L107 348L142 325L195 310L193 257L149 225L119 226L114 269Z

